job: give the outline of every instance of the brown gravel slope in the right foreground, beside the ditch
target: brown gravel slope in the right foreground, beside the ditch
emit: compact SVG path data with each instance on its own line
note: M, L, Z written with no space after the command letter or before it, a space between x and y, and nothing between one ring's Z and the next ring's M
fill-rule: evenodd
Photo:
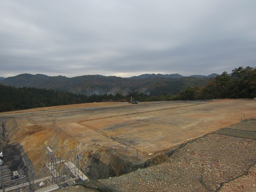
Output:
M229 126L190 141L162 164L83 185L99 191L256 191L255 125L253 119Z

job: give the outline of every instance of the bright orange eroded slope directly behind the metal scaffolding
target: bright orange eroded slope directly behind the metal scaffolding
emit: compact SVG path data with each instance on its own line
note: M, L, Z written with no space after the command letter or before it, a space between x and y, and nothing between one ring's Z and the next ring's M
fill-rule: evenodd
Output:
M41 127L28 124L26 120L14 118L6 122L6 138L9 143L19 143L28 154L33 165L43 167L47 163L46 146L76 146L76 141L54 124Z

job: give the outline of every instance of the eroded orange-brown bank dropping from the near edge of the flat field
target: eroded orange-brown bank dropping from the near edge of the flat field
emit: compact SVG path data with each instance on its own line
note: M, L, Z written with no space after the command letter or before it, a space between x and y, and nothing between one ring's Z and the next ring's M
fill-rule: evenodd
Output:
M55 124L42 127L31 124L28 119L14 118L6 122L6 136L10 143L19 143L24 153L36 167L47 163L46 146L66 146L78 150L87 158L83 172L91 179L103 179L120 176L152 165L164 162L173 151L159 154L146 161L127 157L106 146L92 145L83 148L83 144ZM56 154L57 156L58 154Z

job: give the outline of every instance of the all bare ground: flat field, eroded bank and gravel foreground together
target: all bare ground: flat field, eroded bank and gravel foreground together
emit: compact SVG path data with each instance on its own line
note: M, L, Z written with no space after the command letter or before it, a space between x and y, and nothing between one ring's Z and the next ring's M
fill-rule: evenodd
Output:
M36 167L46 146L86 157L59 191L256 191L256 100L83 103L0 113L5 146Z

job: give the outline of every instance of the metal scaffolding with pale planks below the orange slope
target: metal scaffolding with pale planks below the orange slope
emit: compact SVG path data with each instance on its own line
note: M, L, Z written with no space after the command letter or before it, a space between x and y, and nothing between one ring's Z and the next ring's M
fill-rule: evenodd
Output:
M39 169L23 158L24 170L11 173L7 165L0 166L1 186L3 191L51 191L87 181L88 177L82 170L86 158L71 145L62 147L45 147L46 163ZM46 153L45 153L46 154ZM42 158L44 159L44 158ZM25 170L26 169L26 170ZM22 174L20 174L22 173ZM24 175L24 173L26 173Z

